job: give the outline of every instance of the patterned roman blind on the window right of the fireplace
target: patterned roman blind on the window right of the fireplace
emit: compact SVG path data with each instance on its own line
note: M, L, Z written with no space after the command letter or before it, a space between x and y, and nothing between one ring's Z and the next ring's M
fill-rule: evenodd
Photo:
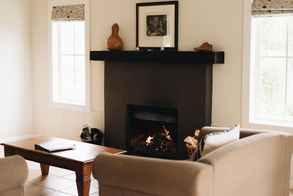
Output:
M292 0L253 0L253 17L271 17L293 15Z

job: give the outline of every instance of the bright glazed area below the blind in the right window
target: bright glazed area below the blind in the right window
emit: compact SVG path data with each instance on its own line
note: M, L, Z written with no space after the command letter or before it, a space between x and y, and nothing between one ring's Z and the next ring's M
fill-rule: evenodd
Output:
M252 20L250 104L250 122L293 122L293 16Z

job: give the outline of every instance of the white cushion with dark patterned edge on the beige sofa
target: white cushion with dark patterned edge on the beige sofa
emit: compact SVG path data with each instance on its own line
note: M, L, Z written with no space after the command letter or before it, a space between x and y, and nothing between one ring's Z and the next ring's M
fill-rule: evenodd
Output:
M197 161L207 153L220 148L221 146L239 140L240 125L237 124L229 129L220 132L213 132L205 135L197 145L197 149L191 158L192 161Z

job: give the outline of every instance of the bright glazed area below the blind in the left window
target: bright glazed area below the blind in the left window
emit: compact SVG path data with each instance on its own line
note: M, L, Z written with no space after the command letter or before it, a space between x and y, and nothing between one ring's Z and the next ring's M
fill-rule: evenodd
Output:
M85 105L84 21L52 21L53 101Z

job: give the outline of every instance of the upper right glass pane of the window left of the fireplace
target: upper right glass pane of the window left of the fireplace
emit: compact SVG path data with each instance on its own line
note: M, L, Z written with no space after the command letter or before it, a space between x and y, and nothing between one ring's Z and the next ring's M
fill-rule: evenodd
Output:
M74 23L75 54L84 54L84 22Z

